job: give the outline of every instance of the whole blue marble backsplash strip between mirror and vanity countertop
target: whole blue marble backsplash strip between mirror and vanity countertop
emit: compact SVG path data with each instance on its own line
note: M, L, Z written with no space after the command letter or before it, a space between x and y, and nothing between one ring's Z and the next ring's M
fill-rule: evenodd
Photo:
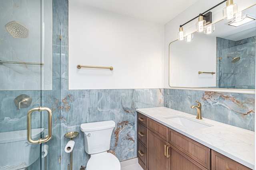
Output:
M202 104L202 117L254 131L254 94L164 89L164 107L193 115L196 100Z

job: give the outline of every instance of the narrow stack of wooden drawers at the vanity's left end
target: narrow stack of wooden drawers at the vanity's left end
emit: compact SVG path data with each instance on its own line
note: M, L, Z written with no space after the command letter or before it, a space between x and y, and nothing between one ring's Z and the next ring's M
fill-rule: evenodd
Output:
M137 112L137 155L140 166L147 170L147 117Z

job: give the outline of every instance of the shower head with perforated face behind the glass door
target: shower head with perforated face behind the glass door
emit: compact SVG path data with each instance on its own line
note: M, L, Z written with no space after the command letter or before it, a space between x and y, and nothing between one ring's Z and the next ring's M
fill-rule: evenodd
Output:
M10 21L5 25L6 30L14 38L26 38L28 37L28 28L17 21Z

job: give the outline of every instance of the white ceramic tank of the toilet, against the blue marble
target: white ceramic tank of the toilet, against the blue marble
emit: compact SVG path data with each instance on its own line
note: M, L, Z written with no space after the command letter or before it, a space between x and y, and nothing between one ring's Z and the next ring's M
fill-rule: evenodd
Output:
M88 154L105 152L110 149L110 139L116 123L99 121L82 123L80 130L84 133L84 150Z

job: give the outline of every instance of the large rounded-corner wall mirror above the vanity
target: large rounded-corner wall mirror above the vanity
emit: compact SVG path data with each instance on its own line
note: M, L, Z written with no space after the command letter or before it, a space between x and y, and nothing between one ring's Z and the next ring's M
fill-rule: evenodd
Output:
M252 6L246 14L255 18L255 11ZM212 34L196 32L191 42L170 43L171 87L255 89L256 21L238 27L229 23L214 23Z

